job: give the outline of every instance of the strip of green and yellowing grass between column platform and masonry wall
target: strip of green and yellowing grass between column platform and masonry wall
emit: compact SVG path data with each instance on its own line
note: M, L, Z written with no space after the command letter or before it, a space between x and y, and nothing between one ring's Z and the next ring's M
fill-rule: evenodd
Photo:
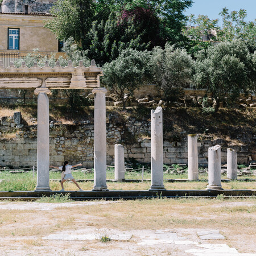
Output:
M93 180L94 174L92 172L81 172L80 170L72 171L73 177L76 180ZM226 179L226 175L221 176L222 179ZM59 191L60 186L60 172L49 172L50 186L53 191ZM114 180L114 168L108 168L106 172L106 178L108 180ZM254 189L256 179L253 176L241 176L239 179L254 179L255 181L229 181L223 182L222 188L224 189ZM144 190L150 187L151 173L150 170L145 170L142 180L142 171L131 171L126 172L126 180L138 180L139 182L121 182L112 183L108 182L108 188L111 190ZM188 174L164 174L164 180L175 180L175 179L188 179ZM56 181L53 181L56 180ZM146 181L147 180L147 181ZM199 181L187 181L187 182L166 182L164 186L166 189L205 189L207 186L208 174L199 174ZM93 187L93 181L80 183L82 189L90 190ZM36 173L33 177L32 171L11 174L9 171L0 172L0 191L34 191L36 187ZM64 188L67 191L77 190L77 187L72 182L65 182Z

